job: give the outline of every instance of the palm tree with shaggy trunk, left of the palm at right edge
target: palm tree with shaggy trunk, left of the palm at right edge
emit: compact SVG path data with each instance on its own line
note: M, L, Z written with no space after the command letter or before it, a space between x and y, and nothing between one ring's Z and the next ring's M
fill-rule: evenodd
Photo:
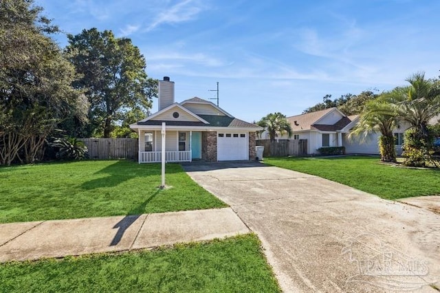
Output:
M396 162L395 138L393 130L397 119L393 106L384 96L376 100L369 100L360 114L358 124L351 130L349 138L358 137L361 141L367 140L371 134L380 133L379 150L380 160Z

